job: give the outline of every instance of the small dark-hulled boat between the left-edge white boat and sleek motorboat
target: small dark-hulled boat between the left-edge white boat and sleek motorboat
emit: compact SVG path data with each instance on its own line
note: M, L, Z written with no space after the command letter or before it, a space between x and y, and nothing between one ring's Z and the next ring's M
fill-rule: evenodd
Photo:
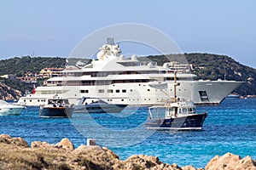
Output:
M67 99L46 99L46 105L40 105L40 117L72 117L73 105Z

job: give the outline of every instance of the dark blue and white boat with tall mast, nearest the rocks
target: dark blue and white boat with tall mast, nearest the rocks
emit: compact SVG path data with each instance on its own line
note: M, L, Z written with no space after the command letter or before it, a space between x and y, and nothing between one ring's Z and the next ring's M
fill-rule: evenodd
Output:
M148 108L146 128L162 130L200 130L207 113L196 113L194 102L176 97L176 74L174 74L174 97L165 105Z

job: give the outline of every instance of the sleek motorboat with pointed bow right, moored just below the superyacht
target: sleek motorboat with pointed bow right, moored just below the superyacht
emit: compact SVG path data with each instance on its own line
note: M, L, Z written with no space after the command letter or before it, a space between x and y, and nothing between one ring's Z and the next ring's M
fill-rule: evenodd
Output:
M90 99L83 97L79 101L79 105L74 107L74 112L79 113L119 113L123 111L127 105L111 104L102 99Z

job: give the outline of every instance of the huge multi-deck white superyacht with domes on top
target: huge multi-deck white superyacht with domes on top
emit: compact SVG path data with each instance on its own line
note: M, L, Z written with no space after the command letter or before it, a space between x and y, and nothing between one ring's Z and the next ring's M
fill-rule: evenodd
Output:
M187 65L177 62L162 66L153 61L140 62L137 56L125 58L119 44L104 44L97 59L88 65L67 67L63 77L47 80L47 85L36 88L18 101L21 105L42 105L46 99L65 97L77 105L79 99L102 99L124 105L158 105L173 94L174 74L177 77L177 96L191 99L195 105L218 105L242 82L195 81Z

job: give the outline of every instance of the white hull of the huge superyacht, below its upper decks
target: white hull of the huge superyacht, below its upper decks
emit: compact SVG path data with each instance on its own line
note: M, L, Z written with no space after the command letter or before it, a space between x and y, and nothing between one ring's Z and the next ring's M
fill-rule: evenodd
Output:
M218 105L242 82L183 81L177 86L177 96L191 99L195 105ZM18 101L20 105L43 105L45 99L57 94L77 105L82 97L100 98L108 103L122 105L158 105L173 94L173 82L168 88L152 88L148 82L115 83L101 86L38 87L36 94L28 94ZM111 93L110 93L111 92ZM39 94L38 94L39 93Z

